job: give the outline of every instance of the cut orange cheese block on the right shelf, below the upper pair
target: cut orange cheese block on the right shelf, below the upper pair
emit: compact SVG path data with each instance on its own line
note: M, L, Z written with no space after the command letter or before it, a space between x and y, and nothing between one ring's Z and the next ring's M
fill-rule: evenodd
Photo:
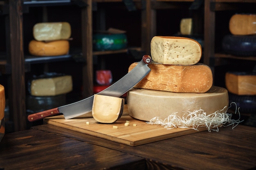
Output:
M256 95L256 73L227 72L225 84L236 95Z

